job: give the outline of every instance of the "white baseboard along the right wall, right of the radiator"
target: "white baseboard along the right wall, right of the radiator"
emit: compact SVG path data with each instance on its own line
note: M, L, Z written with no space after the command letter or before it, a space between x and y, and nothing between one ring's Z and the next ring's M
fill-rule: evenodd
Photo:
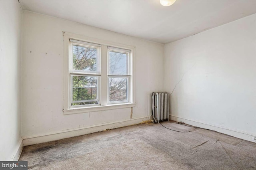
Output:
M188 125L214 130L216 132L228 134L230 136L234 136L236 138L241 138L241 139L244 139L244 140L248 140L250 142L253 142L252 141L253 136L256 137L256 134L248 134L246 132L242 132L242 131L239 131L239 130L230 129L230 128L226 128L226 127L221 127L221 126L218 126L218 125L212 125L210 123L194 121L194 120L191 120L191 119L177 117L177 116L174 116L174 115L169 115L169 116L170 116L169 119L171 119L173 121L177 121L177 122L182 121L182 122L184 122Z

